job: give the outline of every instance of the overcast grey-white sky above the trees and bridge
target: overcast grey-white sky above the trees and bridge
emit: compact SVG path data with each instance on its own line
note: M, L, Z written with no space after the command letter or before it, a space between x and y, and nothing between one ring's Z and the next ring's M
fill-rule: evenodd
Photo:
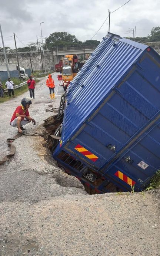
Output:
M27 45L41 36L65 31L79 40L89 40L108 16L127 0L0 0L0 22L5 46L14 49L13 32ZM131 0L111 14L110 32L131 36L129 28L136 26L136 36L147 36L159 26L160 0ZM101 40L108 31L108 19L93 39ZM6 36L6 37L5 37ZM40 37L39 37L39 40ZM17 39L17 47L24 47ZM0 39L0 47L2 42Z

